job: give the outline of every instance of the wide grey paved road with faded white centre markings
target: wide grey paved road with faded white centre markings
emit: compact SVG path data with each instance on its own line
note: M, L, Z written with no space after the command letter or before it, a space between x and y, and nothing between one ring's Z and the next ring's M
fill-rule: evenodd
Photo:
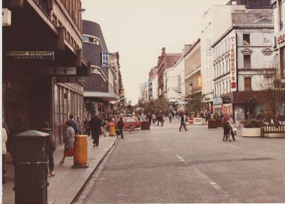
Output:
M120 139L77 203L285 203L285 138L178 126Z

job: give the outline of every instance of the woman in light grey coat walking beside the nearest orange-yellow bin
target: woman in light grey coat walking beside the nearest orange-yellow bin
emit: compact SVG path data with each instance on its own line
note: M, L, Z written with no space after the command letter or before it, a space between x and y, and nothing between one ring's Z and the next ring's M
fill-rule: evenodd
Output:
M63 158L59 162L59 164L63 165L64 160L66 157L71 157L74 155L74 146L73 143L75 141L75 132L72 128L71 121L66 121L66 135L64 136L64 151L63 151Z

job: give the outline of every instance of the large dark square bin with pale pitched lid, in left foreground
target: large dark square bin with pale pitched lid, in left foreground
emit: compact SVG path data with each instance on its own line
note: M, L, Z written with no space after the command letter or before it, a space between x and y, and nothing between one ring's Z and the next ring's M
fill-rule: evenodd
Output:
M15 203L48 203L48 133L14 136Z

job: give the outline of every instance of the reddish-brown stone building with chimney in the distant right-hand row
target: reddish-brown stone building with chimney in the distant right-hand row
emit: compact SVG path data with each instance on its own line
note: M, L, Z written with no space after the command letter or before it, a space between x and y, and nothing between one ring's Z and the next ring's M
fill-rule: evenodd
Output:
M165 48L162 48L161 56L158 57L157 61L157 75L158 75L158 98L164 96L164 93L167 90L163 82L164 72L167 68L170 68L177 63L181 58L182 53L165 53Z

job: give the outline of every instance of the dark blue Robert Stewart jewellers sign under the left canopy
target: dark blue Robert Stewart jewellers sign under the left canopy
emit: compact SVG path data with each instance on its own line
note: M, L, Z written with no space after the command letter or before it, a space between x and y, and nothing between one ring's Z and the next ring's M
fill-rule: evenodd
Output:
M54 51L7 51L6 56L16 60L54 61Z

